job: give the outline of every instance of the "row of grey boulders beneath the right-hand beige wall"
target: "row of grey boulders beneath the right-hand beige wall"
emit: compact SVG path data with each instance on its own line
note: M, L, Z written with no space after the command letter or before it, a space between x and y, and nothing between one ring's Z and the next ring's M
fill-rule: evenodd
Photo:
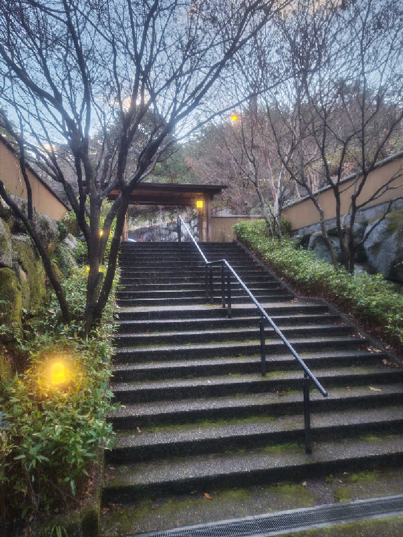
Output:
M368 233L379 214L382 214L379 208L376 212L373 207L361 214L361 219L354 225L357 240L361 240ZM333 221L327 222L327 233L336 256L341 261L339 237ZM295 230L292 236L301 248L311 250L318 258L331 262L329 251L319 231L319 224L310 226L309 229ZM363 265L370 272L380 272L386 278L403 284L403 207L387 214L385 220L357 250L355 260L358 270L362 270L360 265Z

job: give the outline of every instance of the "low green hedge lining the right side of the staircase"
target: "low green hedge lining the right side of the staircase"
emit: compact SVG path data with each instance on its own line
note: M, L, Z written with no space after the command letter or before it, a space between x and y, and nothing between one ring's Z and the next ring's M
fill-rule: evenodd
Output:
M395 293L393 284L381 274L351 275L342 268L335 270L312 252L296 249L289 238L282 243L270 238L264 221L240 222L235 224L234 232L302 291L325 295L365 321L382 327L393 343L403 345L403 296Z

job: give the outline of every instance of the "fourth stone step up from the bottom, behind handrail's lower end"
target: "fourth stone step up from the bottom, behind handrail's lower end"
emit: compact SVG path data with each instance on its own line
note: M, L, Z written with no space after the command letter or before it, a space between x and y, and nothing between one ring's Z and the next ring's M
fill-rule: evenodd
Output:
M390 368L346 367L314 369L316 379L331 388L360 384L382 384L392 382L397 373ZM265 377L259 374L239 376L222 375L196 379L172 379L150 382L113 383L111 389L121 403L146 401L181 400L184 398L220 397L240 393L261 393L262 391L284 391L300 389L302 370L272 371Z

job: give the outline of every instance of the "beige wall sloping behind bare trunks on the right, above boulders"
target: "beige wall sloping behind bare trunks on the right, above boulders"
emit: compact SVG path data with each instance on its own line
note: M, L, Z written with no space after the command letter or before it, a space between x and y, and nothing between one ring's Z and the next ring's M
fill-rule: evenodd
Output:
M358 196L358 204L366 199L370 198L377 189L385 184L387 180L396 176L391 187L395 187L395 190L389 190L375 201L366 205L364 208L378 205L384 201L388 201L397 196L403 195L403 177L398 177L403 174L403 157L394 159L391 162L387 162L382 166L379 166L376 170L373 170L366 183L361 194ZM349 210L349 204L351 200L351 194L354 193L356 187L356 179L347 179L340 184L339 190L341 192L341 213L345 214ZM325 219L332 219L336 216L335 211L335 198L333 190L328 190L318 193L319 205L322 207L325 213ZM310 199L303 199L296 204L293 204L289 208L283 210L283 214L291 222L291 229L299 229L305 226L311 226L312 224L319 222L319 214L316 210L313 202Z

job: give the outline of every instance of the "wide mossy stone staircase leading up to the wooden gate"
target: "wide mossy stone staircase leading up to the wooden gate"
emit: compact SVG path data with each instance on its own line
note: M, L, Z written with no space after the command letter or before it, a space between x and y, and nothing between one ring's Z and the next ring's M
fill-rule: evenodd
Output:
M211 305L192 244L124 243L111 386L122 407L111 418L118 434L106 452L104 505L400 463L402 369L236 244L200 248L227 259L328 390L311 390L313 452L304 447L303 373L268 326L262 377L259 317L238 283L229 319L220 268Z

